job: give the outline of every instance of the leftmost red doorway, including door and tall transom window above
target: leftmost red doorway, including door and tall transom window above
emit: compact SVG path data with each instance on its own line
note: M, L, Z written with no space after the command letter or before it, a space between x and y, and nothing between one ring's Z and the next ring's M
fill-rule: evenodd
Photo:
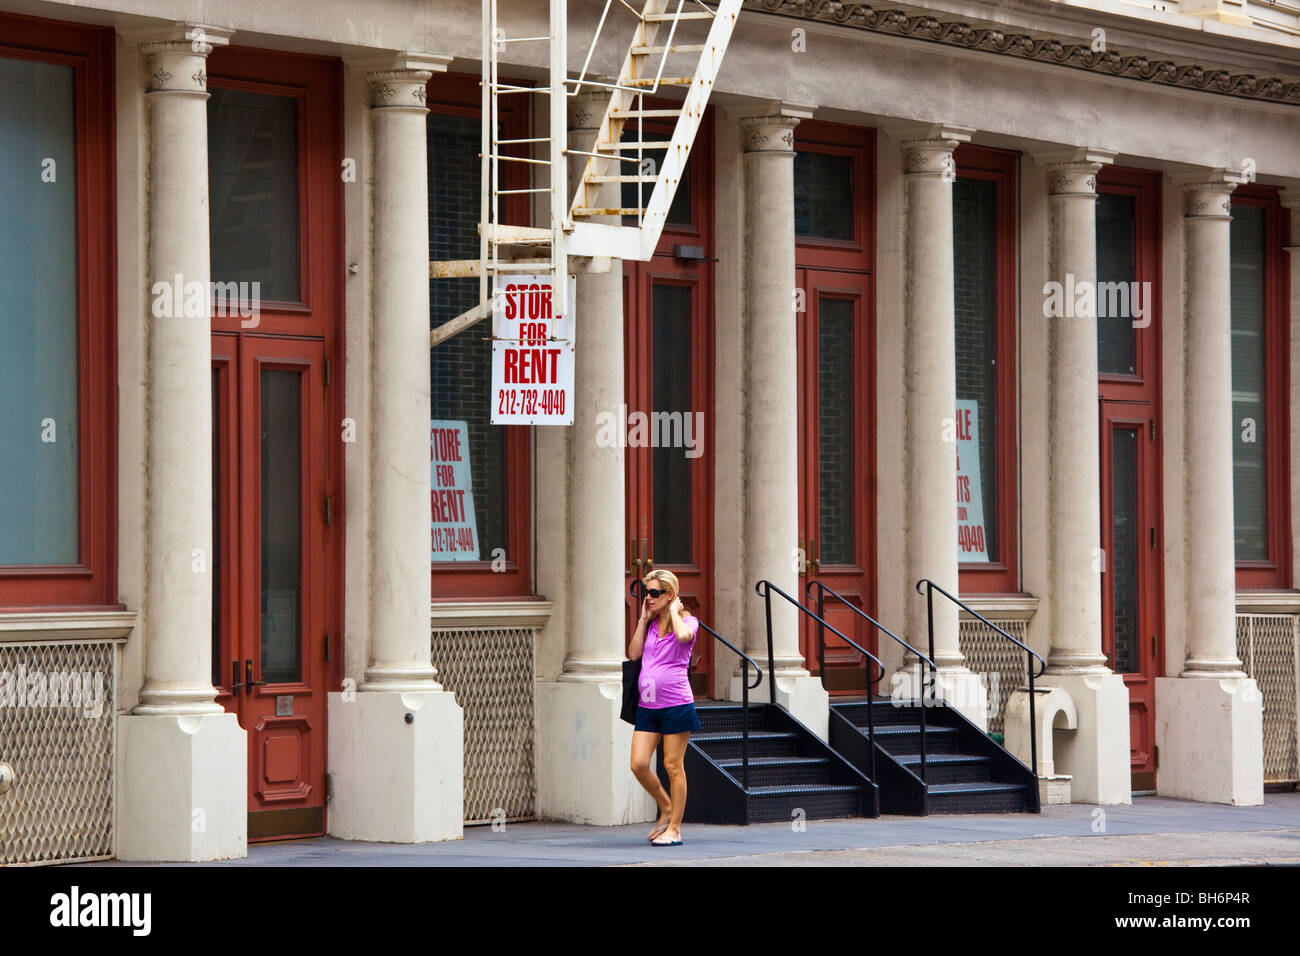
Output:
M342 658L341 73L238 48L209 73L212 276L234 284L212 310L212 683L248 736L248 839L311 836Z

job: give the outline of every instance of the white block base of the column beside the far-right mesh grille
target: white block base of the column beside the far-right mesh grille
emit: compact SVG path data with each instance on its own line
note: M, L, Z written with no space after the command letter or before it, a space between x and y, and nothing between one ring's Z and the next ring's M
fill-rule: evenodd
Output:
M1156 679L1156 792L1208 804L1264 803L1264 710L1253 679Z

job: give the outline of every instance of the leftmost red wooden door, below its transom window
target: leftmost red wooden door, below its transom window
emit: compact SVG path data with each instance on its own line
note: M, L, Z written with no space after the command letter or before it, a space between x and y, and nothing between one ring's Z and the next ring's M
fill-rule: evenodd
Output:
M216 580L225 589L214 682L248 734L250 839L318 834L333 650L324 349L213 338Z

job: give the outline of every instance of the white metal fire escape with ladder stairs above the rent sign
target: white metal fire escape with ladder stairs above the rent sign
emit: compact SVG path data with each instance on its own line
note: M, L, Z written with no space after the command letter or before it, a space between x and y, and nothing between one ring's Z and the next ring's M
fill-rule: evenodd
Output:
M640 10L628 0L606 0L577 77L568 75L567 0L550 0L546 34L511 35L498 21L498 0L482 5L482 178L478 259L430 263L433 277L478 277L478 304L434 329L433 345L469 328L491 312L497 280L510 273L549 274L556 316L567 316L567 276L598 271L610 258L647 260L663 230L677 183L708 104L708 94L722 69L742 0L641 0ZM608 27L633 26L632 40L614 82L590 75L593 57ZM634 18L634 20L633 20ZM662 38L662 39L660 39ZM499 64L515 44L540 44L549 52L549 82L524 86L503 82ZM508 57L506 57L508 59ZM685 87L685 99L671 108L645 107L646 95ZM568 98L607 90L608 101L590 151L568 146ZM549 137L502 138L503 96L545 98L550 113ZM540 104L538 104L540 105ZM644 121L668 122L667 138L647 139ZM629 122L634 126L628 127ZM630 139L624 139L633 133ZM662 134L660 134L662 135ZM543 150L545 147L545 150ZM659 156L662 151L662 156ZM545 159L536 153L545 152ZM658 161L649 161L653 152ZM586 157L577 189L568 189L568 156ZM546 168L543 186L514 186L503 164ZM536 182L529 177L529 182ZM607 183L636 183L634 206L601 206ZM547 195L550 222L520 226L502 221L502 196ZM619 217L627 225L598 221ZM634 219L634 224L628 221Z

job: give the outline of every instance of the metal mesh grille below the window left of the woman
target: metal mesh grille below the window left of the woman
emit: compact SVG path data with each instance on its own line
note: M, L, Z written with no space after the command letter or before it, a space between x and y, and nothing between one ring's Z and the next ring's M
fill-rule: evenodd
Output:
M465 711L465 823L533 819L533 631L434 631L433 666Z

